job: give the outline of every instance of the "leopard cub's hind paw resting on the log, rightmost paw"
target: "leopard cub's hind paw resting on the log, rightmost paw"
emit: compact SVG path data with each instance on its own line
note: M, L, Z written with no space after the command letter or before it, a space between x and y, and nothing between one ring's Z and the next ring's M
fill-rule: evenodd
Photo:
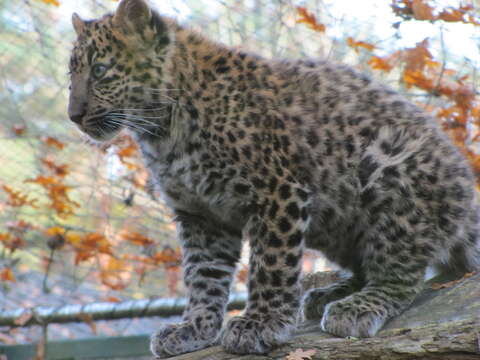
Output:
M355 296L325 306L320 327L341 337L371 337L385 324L385 311L380 307L355 302Z

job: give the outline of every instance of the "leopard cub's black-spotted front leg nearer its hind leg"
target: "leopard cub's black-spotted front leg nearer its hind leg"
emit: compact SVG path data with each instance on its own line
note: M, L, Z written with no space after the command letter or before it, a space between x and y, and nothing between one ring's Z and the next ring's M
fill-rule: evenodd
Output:
M259 201L247 231L251 245L247 308L224 329L226 351L263 354L285 342L295 329L307 198L301 187L284 183Z

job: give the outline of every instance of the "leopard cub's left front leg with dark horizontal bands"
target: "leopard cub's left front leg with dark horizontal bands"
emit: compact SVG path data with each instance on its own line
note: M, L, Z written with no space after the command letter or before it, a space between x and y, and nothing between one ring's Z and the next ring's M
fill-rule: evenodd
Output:
M241 250L240 232L208 224L203 218L181 213L177 231L188 304L181 323L166 325L152 336L150 348L159 359L218 342Z

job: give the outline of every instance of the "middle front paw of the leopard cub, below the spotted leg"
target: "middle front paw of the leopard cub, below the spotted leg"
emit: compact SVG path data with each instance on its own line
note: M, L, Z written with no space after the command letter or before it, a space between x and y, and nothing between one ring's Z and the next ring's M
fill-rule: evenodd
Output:
M295 328L289 319L254 320L248 315L230 319L223 332L224 349L234 354L265 354L290 337Z

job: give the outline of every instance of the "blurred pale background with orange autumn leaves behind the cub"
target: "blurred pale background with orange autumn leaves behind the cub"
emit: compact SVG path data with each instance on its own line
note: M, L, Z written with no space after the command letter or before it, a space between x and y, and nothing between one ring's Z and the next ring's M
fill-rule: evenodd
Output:
M151 3L247 51L329 58L370 73L431 112L480 175L478 1ZM91 145L66 114L71 14L94 18L117 4L0 0L0 315L184 295L174 224L149 190L135 144L124 134ZM307 254L306 271L329 267ZM238 277L235 291L244 291L245 262ZM51 325L49 339L148 333L148 321ZM0 343L37 342L40 333L0 328Z

